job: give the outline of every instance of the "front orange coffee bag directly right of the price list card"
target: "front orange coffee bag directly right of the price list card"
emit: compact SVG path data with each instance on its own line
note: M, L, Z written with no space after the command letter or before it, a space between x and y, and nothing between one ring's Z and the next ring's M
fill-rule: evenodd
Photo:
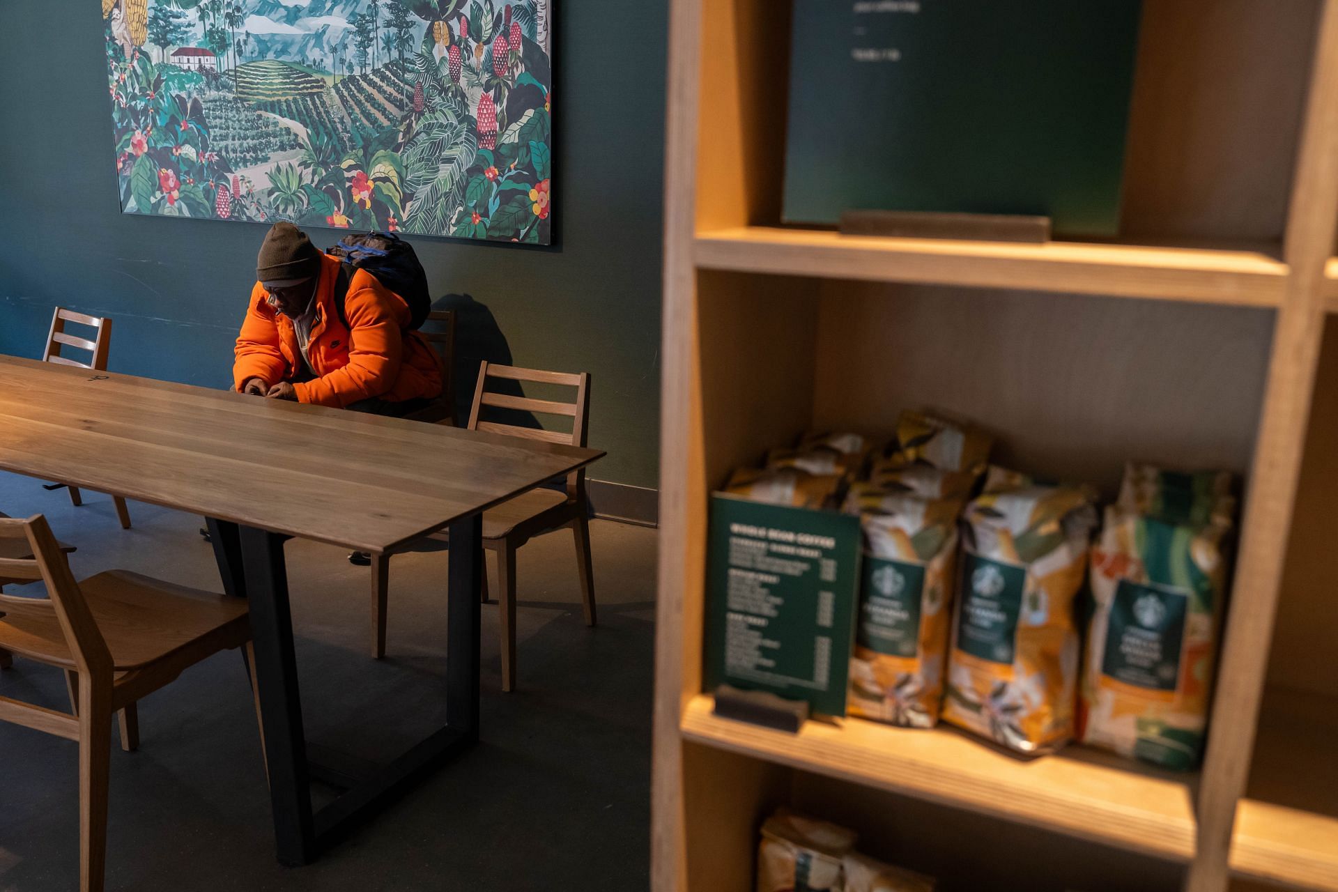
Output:
M938 723L961 501L856 484L864 562L847 710L906 728Z

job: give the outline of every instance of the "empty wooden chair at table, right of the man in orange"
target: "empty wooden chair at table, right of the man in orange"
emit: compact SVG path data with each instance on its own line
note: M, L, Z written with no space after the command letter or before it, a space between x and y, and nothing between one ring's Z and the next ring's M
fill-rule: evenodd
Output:
M511 381L533 381L558 384L575 388L574 403L554 403L534 400L508 393L491 393L488 378ZM522 428L511 424L498 424L482 420L486 407L518 409L541 415L561 415L571 419L571 433ZM474 391L474 405L470 411L468 429L490 431L510 436L586 445L586 428L590 419L590 374L566 374L561 372L541 372L518 369L510 365L479 366L479 381ZM585 489L585 469L567 475L566 492L555 489L530 489L496 508L483 512L483 547L498 555L499 611L502 617L502 690L515 689L515 552L534 536L571 527L577 544L577 570L581 574L581 595L587 626L595 622L594 615L594 571L590 562L590 520L589 500ZM432 536L448 540L446 534ZM389 591L391 555L372 555L372 655L380 659L385 655L385 607ZM483 598L487 599L484 580Z

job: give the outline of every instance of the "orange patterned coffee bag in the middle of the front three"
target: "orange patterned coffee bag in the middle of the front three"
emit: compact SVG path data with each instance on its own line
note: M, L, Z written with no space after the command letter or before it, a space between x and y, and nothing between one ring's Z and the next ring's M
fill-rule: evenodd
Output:
M1093 495L991 468L966 507L943 718L1021 753L1073 736Z

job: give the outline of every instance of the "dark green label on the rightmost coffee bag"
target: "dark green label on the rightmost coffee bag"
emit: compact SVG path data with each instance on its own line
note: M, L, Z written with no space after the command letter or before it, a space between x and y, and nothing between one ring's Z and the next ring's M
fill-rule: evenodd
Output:
M1101 673L1125 685L1173 691L1188 608L1187 591L1121 579L1111 604Z

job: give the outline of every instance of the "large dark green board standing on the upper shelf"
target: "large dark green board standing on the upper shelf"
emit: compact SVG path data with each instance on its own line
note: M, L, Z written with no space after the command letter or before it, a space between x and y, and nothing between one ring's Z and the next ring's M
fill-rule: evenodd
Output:
M795 0L784 219L1119 234L1140 0Z

